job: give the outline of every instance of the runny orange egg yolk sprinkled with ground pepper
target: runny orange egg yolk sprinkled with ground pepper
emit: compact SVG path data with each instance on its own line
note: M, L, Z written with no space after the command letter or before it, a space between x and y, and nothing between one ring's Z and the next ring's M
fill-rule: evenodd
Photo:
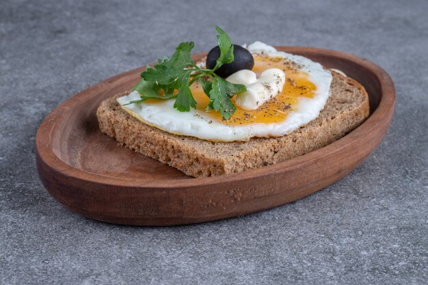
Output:
M280 94L258 107L258 109L248 111L235 105L237 110L232 117L228 120L222 119L219 111L205 111L209 98L202 90L200 83L196 82L191 85L190 89L193 98L196 100L197 109L206 112L206 117L210 120L229 125L282 122L286 119L289 111L297 108L297 97L313 98L315 95L317 87L309 81L308 74L298 70L293 62L289 62L288 59L282 57L254 57L252 71L256 72L257 77L268 68L284 70L286 82ZM235 96L232 98L232 103L235 103Z

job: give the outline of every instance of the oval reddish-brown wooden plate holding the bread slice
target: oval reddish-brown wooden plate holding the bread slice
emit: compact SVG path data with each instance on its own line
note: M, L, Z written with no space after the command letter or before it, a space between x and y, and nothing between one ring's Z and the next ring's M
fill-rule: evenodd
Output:
M168 226L263 211L343 178L369 156L387 131L395 98L390 77L375 64L347 53L277 48L343 70L359 81L370 97L368 120L342 139L302 157L241 174L191 178L118 146L98 129L98 105L135 85L143 70L138 68L80 92L42 122L36 137L36 163L44 187L71 211L92 219Z

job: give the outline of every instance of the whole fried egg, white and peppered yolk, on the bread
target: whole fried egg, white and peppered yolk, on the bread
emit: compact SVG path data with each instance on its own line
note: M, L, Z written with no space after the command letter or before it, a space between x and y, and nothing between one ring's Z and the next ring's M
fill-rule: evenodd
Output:
M137 120L175 135L186 135L209 141L245 141L251 137L281 137L308 124L319 116L329 97L332 74L321 64L300 56L277 51L273 46L254 42L247 47L254 57L257 77L269 68L284 72L285 82L276 96L256 109L237 110L228 120L217 111L206 111L209 98L201 85L191 85L196 109L180 112L174 109L174 99L139 99L138 92L118 98L122 108ZM239 95L238 95L239 96ZM124 105L124 106L123 106Z

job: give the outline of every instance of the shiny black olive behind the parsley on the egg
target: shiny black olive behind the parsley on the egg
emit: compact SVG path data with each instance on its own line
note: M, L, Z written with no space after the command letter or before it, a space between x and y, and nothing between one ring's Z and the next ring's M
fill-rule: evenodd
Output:
M220 48L219 46L215 46L206 56L206 68L213 69L219 56ZM222 65L219 69L215 70L215 74L217 74L219 77L226 78L239 70L252 70L254 66L254 58L248 49L244 49L242 46L234 44L233 56L235 57L235 60L230 64Z

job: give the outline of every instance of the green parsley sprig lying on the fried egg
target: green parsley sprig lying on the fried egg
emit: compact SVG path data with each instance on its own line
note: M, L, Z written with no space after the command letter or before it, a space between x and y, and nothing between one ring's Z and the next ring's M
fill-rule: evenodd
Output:
M245 85L234 84L222 79L215 70L224 64L234 61L233 44L226 31L215 27L220 55L213 69L200 68L191 59L193 42L182 42L176 47L171 57L157 60L153 67L148 66L142 72L142 79L132 90L140 95L139 100L132 103L141 103L149 98L171 99L175 98L174 108L178 111L189 111L190 107L196 109L196 100L190 91L190 85L200 81L202 89L209 97L208 109L220 111L222 117L230 118L236 111L230 98L246 90Z

